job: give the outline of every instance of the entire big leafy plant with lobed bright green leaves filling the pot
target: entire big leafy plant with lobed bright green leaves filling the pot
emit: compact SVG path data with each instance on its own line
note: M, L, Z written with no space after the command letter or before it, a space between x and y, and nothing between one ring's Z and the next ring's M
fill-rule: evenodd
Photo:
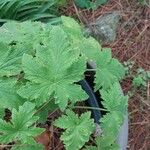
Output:
M95 91L99 90L107 114L100 120L103 131L96 141L101 150L119 149L116 138L127 112L127 97L120 89L124 67L112 58L111 49L86 38L80 25L69 17L62 24L8 22L0 28L0 143L1 147L42 150L34 137L43 132L50 110L62 116L54 126L64 129L66 150L86 147L95 129L90 111L73 112L77 102L88 98L77 84L84 79L88 61L96 63ZM9 122L4 110L12 113Z

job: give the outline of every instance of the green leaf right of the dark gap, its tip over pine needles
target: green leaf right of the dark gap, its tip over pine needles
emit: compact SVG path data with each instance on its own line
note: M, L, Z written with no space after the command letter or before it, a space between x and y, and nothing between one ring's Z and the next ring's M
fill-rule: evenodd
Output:
M111 50L107 48L97 54L96 65L96 90L100 87L104 89L111 87L125 74L124 67L117 59L112 58Z

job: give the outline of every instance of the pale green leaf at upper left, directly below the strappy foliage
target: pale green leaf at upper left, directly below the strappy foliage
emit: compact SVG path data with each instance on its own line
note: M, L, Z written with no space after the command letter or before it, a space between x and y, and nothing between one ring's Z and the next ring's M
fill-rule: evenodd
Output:
M44 25L43 25L44 26ZM36 42L37 34L42 31L40 22L15 22L10 21L5 23L0 28L0 42L3 43L22 43L24 46L33 45ZM32 40L31 40L32 39Z

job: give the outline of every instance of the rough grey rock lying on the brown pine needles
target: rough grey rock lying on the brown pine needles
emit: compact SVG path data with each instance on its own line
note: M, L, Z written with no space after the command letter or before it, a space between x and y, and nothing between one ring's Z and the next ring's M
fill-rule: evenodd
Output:
M112 43L116 38L116 30L119 24L120 14L117 11L110 12L90 23L85 33L93 36L102 44Z

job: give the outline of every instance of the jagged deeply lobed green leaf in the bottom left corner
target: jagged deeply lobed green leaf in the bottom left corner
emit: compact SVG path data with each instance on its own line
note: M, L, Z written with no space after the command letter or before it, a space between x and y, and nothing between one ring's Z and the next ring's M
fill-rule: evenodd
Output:
M38 117L33 116L35 105L26 102L19 107L19 110L12 110L11 122L5 122L0 119L0 143L9 143L20 141L23 143L33 144L34 137L43 132L43 129L36 128L33 123Z

